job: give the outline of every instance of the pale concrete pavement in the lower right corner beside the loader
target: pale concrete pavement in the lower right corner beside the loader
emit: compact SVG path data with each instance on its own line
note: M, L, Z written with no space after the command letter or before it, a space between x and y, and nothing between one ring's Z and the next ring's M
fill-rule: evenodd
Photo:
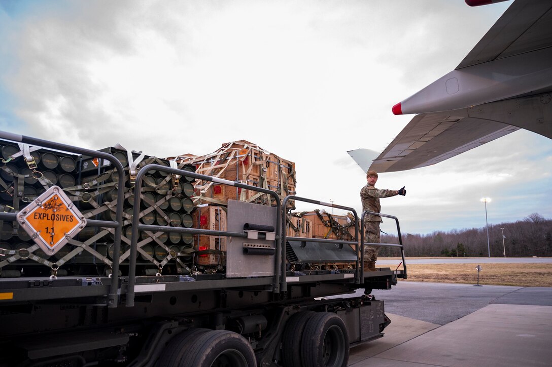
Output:
M490 304L443 326L388 316L385 336L352 348L349 366L552 365L552 306Z

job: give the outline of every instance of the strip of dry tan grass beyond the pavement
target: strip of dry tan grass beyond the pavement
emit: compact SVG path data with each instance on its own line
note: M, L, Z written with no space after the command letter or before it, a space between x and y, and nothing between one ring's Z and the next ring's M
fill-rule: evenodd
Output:
M477 284L476 263L408 265L407 261L406 264L408 279L399 279L400 281ZM529 263L481 264L479 284L552 287L552 266Z

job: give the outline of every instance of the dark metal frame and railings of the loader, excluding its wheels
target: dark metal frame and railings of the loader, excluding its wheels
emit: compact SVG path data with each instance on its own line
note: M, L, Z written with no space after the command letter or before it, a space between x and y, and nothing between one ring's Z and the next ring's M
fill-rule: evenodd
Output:
M108 160L119 172L118 187L123 187L124 168L114 156L108 153L6 132L0 132L0 138ZM136 276L136 241L139 230L178 231L226 236L227 238L247 238L248 236L245 231L230 232L140 224L137 221L137 211L141 198L136 193L140 193L144 175L151 170L213 181L272 196L276 202L274 210L277 213L274 226L274 274L272 276L237 278L226 278L225 274L219 273L188 276L163 276L161 274L158 276ZM240 324L240 327L247 329L251 336L258 333L258 340L249 337L256 350L258 365L277 365L274 364L274 361L282 358L282 351L278 349L278 346L285 331L285 324L298 312L314 310L343 314L348 312L352 306L359 310L362 310L362 307L368 310L370 306L370 300L364 298L325 300L315 300L315 298L352 294L358 288L365 288L365 294L369 294L371 289L390 289L391 285L396 284L397 277L406 278L406 266L402 271L383 269L377 274L374 272L364 274L363 258L360 256L363 251L364 236L363 233L360 233L359 249L358 217L353 208L296 196L288 196L280 204L278 194L272 190L156 164L142 167L136 174L135 182L133 217L135 219L132 223L128 276L119 274L123 195L118 195L115 221L90 219L87 223L88 226L115 229L112 275L109 277L67 276L0 279L0 320L6 321L2 323L0 345L14 349L19 348L26 353L30 360L50 361L55 360L58 355L70 355L71 358L75 358L75 365L79 365L84 360L80 353L95 353L99 349L114 353L112 349L115 349L116 355L124 355L127 349L131 350L132 346L139 346L137 350L134 347L134 350L130 351L129 355L134 360L129 365L154 365L160 355L166 353L158 346L168 344L174 334L196 327L209 327L214 330L231 329L236 323L242 322L243 325ZM285 213L282 208L286 208L286 203L290 199L344 209L354 214L355 220L357 220L355 241L309 239L309 241L321 244L354 245L357 256L354 269L339 271L314 269L309 273L298 274L286 268L284 245L286 236L283 228ZM364 215L365 213L363 213L362 219ZM394 218L397 229L399 229L399 222L395 217L379 215ZM0 218L15 220L15 214L0 213ZM399 239L401 240L400 231ZM402 241L398 245L377 245L400 247L404 263ZM12 251L14 252L6 255L17 256L17 250ZM178 256L177 253L173 255L174 257ZM374 300L372 303L374 307L379 307L383 314L383 302ZM123 305L124 307L121 307ZM258 315L255 312L273 317L272 325L265 325L267 330L261 330L257 324L254 327L251 326L252 322L257 322L255 316ZM363 322L362 311L359 312L355 316L356 319L353 318L353 323ZM45 319L49 320L43 326L41 322ZM73 319L75 320L73 321ZM383 336L382 325L385 327L389 322L387 319L385 322L383 319L378 322L379 328L376 325L375 331L371 333L352 334L353 338L349 337L348 339L351 340L349 345L353 346ZM358 325L355 327L358 328ZM262 337L261 331L263 331ZM138 339L139 341L133 343ZM95 342L91 343L91 340ZM95 360L94 358L98 357L90 358ZM112 360L118 363L128 362L129 360L125 358L114 357ZM29 365L43 364L38 362L38 364ZM4 366L2 358L0 358L0 366Z

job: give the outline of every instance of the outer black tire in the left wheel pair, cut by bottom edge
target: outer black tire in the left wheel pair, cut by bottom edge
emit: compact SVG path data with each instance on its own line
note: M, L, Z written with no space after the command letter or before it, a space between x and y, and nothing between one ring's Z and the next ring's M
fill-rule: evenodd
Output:
M240 334L212 330L201 334L187 350L181 367L256 367L251 344Z

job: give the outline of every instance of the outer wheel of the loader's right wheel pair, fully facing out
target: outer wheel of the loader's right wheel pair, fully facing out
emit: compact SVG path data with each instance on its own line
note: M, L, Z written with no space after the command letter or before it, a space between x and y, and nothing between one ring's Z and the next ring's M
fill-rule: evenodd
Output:
M309 367L346 367L349 360L349 336L341 317L318 312L305 325L301 358Z

